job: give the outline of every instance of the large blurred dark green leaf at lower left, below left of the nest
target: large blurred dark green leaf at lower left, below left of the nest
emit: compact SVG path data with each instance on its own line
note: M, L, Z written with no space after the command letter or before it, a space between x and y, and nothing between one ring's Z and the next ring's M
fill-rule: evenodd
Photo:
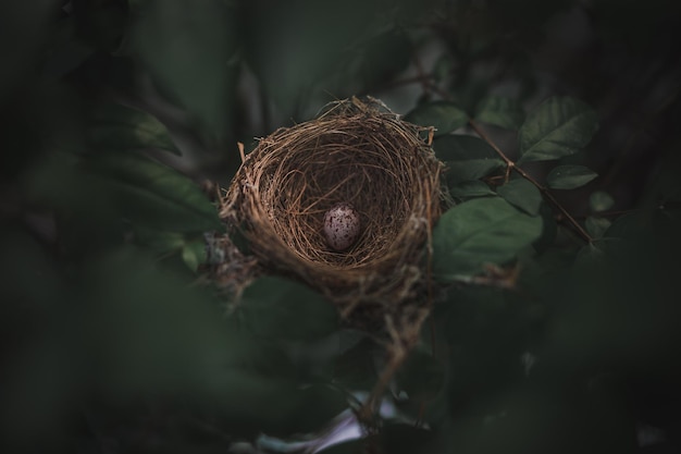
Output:
M230 346L233 333L208 295L162 272L149 257L124 249L90 268L89 323L83 329L101 348L92 353L110 368L102 379L111 385L170 391L219 367L216 358L237 364L255 353L253 345Z

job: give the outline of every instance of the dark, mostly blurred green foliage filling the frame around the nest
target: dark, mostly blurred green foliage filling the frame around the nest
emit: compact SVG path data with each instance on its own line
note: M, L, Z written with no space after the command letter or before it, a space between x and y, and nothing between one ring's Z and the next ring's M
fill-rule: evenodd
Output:
M3 452L680 452L680 17L667 0L2 2ZM200 182L230 182L237 140L351 95L436 128L456 205L384 410L329 445L384 347L290 279L240 304L205 285L222 225Z

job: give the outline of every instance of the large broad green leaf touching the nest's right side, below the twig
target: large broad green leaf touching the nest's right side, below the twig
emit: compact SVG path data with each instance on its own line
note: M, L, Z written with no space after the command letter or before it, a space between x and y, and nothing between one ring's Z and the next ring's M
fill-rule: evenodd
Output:
M486 263L512 260L542 234L542 218L502 198L465 201L443 214L433 230L433 271L442 281L473 274Z

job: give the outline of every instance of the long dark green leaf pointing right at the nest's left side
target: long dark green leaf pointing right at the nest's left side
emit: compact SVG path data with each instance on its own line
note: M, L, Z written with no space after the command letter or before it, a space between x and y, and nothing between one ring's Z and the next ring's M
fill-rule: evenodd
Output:
M133 224L177 232L222 229L199 186L168 165L137 154L91 155L81 164L87 191Z

